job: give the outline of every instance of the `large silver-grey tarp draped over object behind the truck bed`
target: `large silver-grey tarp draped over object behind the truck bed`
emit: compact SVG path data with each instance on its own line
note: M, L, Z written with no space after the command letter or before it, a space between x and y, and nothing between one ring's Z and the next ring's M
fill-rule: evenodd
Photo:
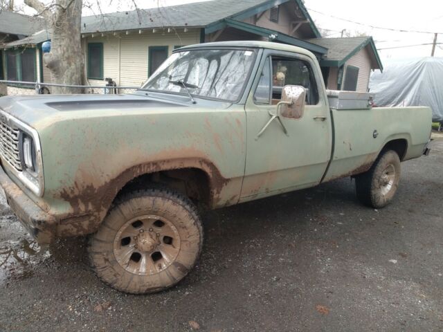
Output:
M383 61L383 73L370 77L377 106L428 106L433 121L443 122L443 58Z

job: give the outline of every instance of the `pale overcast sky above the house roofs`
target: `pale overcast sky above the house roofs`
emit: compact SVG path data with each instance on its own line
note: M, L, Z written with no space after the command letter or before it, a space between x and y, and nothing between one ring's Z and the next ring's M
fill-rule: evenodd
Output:
M138 8L154 8L205 0L134 1ZM16 0L15 3L16 7L24 10L26 14L35 13L23 5L23 0ZM84 15L97 14L100 10L114 12L134 9L132 0L84 0L84 3L91 5L91 8L84 8ZM437 35L437 43L442 43L437 44L435 56L443 57L443 1L441 0L305 0L305 6L316 26L321 29L323 37L341 37L341 31L344 29L343 35L371 35L382 60L430 56L432 45L404 46L432 44L434 33L441 33ZM408 32L388 29L408 30ZM428 33L411 32L412 30Z

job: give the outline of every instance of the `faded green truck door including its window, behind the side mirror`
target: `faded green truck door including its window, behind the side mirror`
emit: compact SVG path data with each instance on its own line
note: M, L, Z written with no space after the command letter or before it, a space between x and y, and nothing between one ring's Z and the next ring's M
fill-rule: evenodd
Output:
M287 133L278 119L262 131L288 84L305 87L304 111L296 119L280 117ZM245 109L246 168L240 201L320 183L331 155L332 126L318 62L307 55L265 50Z

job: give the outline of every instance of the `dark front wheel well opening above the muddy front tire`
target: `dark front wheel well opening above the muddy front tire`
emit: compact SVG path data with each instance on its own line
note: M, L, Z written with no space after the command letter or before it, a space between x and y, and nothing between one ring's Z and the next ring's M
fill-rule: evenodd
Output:
M117 196L125 192L141 190L153 184L164 185L172 190L176 190L199 205L207 206L210 203L208 174L201 169L193 167L170 169L137 176L129 181L118 192Z

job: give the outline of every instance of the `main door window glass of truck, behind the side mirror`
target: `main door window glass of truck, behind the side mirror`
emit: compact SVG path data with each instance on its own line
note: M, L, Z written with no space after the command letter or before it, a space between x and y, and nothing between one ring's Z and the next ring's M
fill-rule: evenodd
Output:
M299 59L272 57L272 103L277 104L282 98L285 85L300 85L306 89L306 104L318 103L316 80L307 62Z

